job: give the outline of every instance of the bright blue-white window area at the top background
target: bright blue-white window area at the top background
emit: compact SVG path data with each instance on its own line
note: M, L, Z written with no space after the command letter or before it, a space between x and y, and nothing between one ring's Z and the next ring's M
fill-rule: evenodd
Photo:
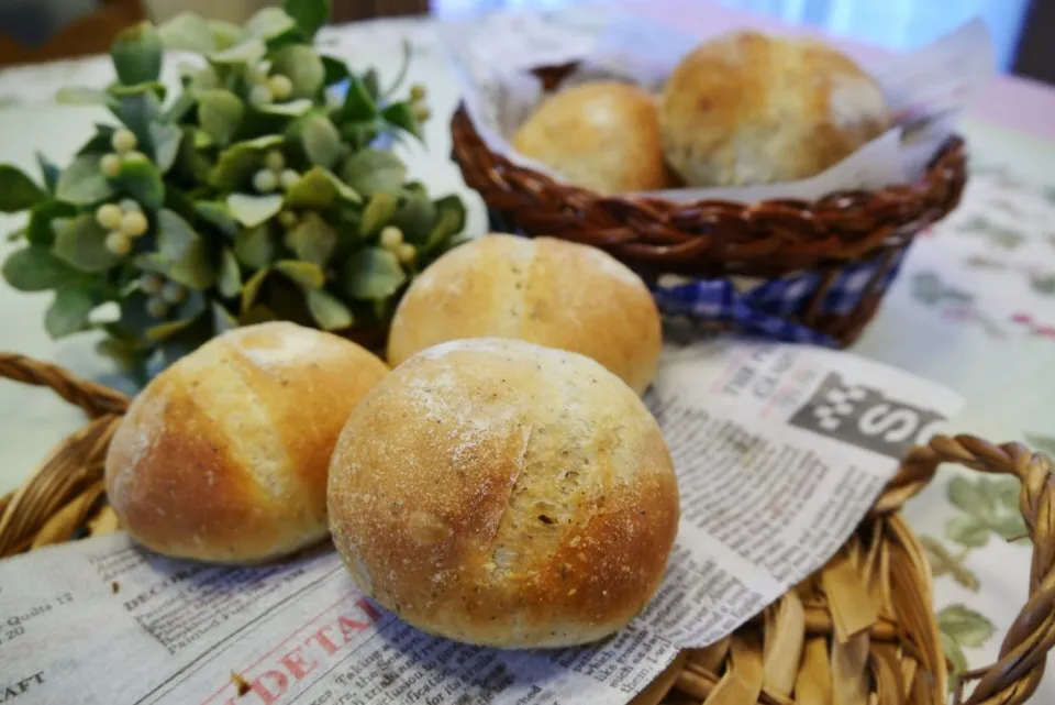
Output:
M597 0L432 0L433 12L458 16L499 9L544 9ZM663 2L663 0L652 0ZM704 0L701 0L704 1ZM992 33L999 69L1009 71L1030 0L706 0L814 26L889 49L925 44L975 16ZM1043 1L1043 0L1042 0Z

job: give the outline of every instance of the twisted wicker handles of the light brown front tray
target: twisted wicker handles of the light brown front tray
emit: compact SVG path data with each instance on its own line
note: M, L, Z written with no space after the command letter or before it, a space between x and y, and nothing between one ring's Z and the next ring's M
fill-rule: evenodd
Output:
M81 485L95 487L93 483L101 476L101 458L115 421L130 400L119 392L79 379L56 365L22 355L0 354L0 376L51 387L64 399L96 417L96 421L75 438L68 439L45 461L13 497L0 500L0 557L3 557L34 531L30 526L34 521L20 521L25 519L25 513L19 510L20 499L32 494L34 486L41 482L51 481L56 475L70 476L69 467L63 466L56 459L87 456L89 460L85 463L84 476L78 482L69 482L68 492L78 496L84 492ZM78 452L71 452L74 448L79 449ZM1053 464L1046 455L1034 453L1020 443L993 445L971 436L936 436L928 445L915 448L906 456L900 472L876 503L873 514L889 514L900 509L909 497L931 481L943 463L958 463L980 472L1012 475L1022 483L1020 506L1034 547L1030 598L1008 630L1000 646L999 660L988 668L963 674L956 694L956 703L964 705L1020 705L1036 691L1044 674L1047 652L1055 646ZM68 502L69 496L60 499ZM42 520L47 519L48 511L36 514L44 515ZM12 531L19 525L22 530ZM11 544L5 547L8 551L2 550L5 542ZM963 690L968 681L978 681L978 684L965 701Z

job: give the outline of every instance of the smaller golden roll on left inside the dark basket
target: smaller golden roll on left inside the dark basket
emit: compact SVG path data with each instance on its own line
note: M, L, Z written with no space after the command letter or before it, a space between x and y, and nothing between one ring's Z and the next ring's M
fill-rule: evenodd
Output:
M614 80L586 81L548 98L517 130L513 148L601 194L673 186L656 101Z

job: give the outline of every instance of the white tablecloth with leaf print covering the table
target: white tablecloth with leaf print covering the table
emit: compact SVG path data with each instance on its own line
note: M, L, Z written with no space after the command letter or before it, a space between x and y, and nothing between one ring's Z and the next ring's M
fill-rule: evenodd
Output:
M700 32L762 20L701 2L656 2L633 11ZM604 9L576 8L580 21ZM570 12L570 11L569 11ZM429 21L389 20L327 30L356 68L377 66L386 77L402 37L414 46L411 81L429 87L435 118L427 151L404 156L430 189L455 191L470 208L468 231L486 230L482 203L447 158L447 120L458 89ZM848 46L860 58L879 53ZM166 67L173 80L171 66ZM106 57L0 73L0 159L33 168L42 150L65 162L90 133L101 111L48 104L62 85L99 85L110 75ZM999 78L977 100L963 124L973 156L964 205L923 238L854 352L940 381L967 399L952 423L993 441L1022 440L1055 453L1055 383L1045 373L1055 351L1055 90ZM0 217L0 231L16 227ZM0 256L11 245L0 243ZM42 318L47 295L25 295L0 283L2 346L49 360L77 374L119 382L92 352L90 335L48 340ZM911 330L911 332L909 332ZM0 382L0 492L13 488L66 433L80 414L40 389ZM924 537L935 570L935 605L954 659L973 668L996 658L1000 637L1024 604L1030 548L1008 542L1018 528L997 486L945 470L906 508ZM1055 702L1048 678L1034 698Z

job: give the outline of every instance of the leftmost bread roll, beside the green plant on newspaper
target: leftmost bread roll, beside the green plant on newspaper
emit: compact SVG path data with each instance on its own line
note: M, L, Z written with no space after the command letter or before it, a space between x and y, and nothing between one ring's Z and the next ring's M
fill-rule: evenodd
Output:
M293 323L214 338L132 403L107 454L110 503L133 539L178 558L258 563L320 541L330 454L387 372Z

